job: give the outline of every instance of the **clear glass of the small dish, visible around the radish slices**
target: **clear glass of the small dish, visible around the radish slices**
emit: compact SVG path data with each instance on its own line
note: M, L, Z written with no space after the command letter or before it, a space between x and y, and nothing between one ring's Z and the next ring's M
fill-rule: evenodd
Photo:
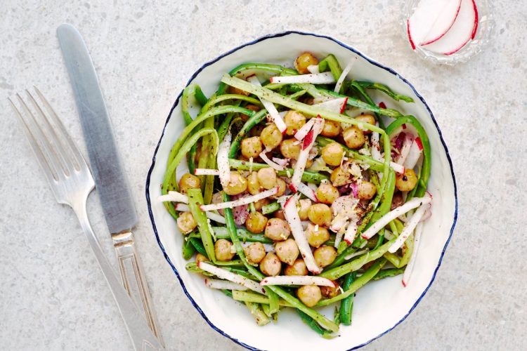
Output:
M453 53L452 55L443 55L441 53L433 53L427 51L421 46L416 46L415 53L424 58L429 62L434 62L438 65L456 65L460 62L467 62L474 55L480 53L483 48L488 44L493 36L495 22L493 20L493 7L490 0L475 0L478 8L478 29L476 37L470 40L460 51ZM403 11L401 13L401 25L404 30L404 36L408 42L408 47L411 49L410 41L408 40L408 27L407 20L410 18L415 10L415 6L419 3L419 0L407 0L405 1Z

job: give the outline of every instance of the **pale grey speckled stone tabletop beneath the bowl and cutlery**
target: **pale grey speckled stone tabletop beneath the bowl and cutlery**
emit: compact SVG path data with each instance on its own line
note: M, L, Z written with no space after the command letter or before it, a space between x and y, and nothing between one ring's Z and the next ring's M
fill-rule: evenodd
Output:
M413 54L399 1L19 1L0 6L0 345L4 350L130 350L70 208L56 204L6 98L33 84L84 150L55 29L70 22L96 66L128 173L143 258L170 350L240 350L184 296L157 247L145 177L190 75L246 41L287 29L327 34L393 67L422 93L450 148L459 219L436 282L400 326L364 350L521 350L527 330L526 1L493 1L494 40L467 64ZM306 48L308 49L308 48ZM96 194L93 227L110 258Z

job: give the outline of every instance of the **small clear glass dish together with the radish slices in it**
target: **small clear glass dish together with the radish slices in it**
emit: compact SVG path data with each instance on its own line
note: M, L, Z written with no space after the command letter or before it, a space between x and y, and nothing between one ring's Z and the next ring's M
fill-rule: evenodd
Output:
M415 53L437 64L455 65L467 62L490 41L492 13L490 0L407 0L401 24Z

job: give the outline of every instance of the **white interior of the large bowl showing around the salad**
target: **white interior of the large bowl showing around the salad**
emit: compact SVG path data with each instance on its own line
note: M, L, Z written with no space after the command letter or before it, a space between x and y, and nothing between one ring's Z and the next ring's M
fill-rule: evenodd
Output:
M410 284L405 288L401 276L382 279L367 284L357 292L351 326L341 326L340 336L332 340L321 338L311 331L293 311L280 312L276 324L256 326L247 308L223 295L207 289L203 279L185 270L186 260L181 255L183 237L178 233L175 221L157 201L161 194L160 184L167 166L172 144L183 130L179 94L164 126L159 144L155 148L152 166L146 180L146 198L152 227L164 257L178 277L183 291L212 328L242 346L256 350L350 350L370 343L393 329L412 312L419 300L434 281L441 259L454 230L457 218L457 197L452 162L441 131L429 107L415 88L388 67L367 58L355 49L317 34L284 32L272 34L234 48L218 58L205 63L193 74L188 84L197 83L210 96L221 75L244 62L270 62L291 65L302 51L311 51L319 58L333 53L341 65L353 55L358 62L350 74L354 79L377 81L394 91L414 98L415 103L394 102L386 95L372 94L376 102L383 100L389 107L397 107L405 114L413 114L426 129L432 148L429 191L434 196L432 216L424 225L424 234ZM180 173L181 174L181 171ZM321 312L333 315L334 307ZM174 313L177 313L174 310Z

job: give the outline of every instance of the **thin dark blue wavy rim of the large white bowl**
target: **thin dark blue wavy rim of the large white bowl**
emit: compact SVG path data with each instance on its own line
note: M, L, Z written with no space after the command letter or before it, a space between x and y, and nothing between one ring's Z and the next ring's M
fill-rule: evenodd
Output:
M233 48L232 50L230 51L227 51L226 53L223 53L221 55L219 55L217 58L214 58L214 60L210 60L209 62L206 62L204 63L204 65L202 65L202 67L200 67L200 69L197 69L196 72L194 72L194 74L192 75L192 77L190 77L190 79L188 80L187 82L187 85L190 84L194 79L195 77L197 77L197 74L200 74L200 72L205 68L205 67L208 67L209 65L212 65L213 63L221 60L222 58L230 55L231 53L234 53L235 51L238 51L240 50L240 48L245 48L245 46L249 46L249 45L254 45L254 44L257 44L259 43L260 41L264 41L264 40L267 40L267 39L273 39L273 38L278 38L278 37L285 37L289 34L299 34L299 35L305 35L305 36L311 36L311 37L318 37L318 38L324 38L324 39L329 39L331 41L333 41L334 43L336 44L339 44L340 46L344 47L344 48L347 48L349 51L353 52L353 53L356 53L357 55L360 55L360 57L364 58L365 60L367 60L368 62L370 62L372 65L375 65L379 68L382 68L382 69L385 69L386 71L390 72L391 74L394 74L398 79L401 79L402 81L405 82L405 84L408 84L408 86L410 86L410 88L412 89L412 91L415 93L415 95L417 96L417 98L419 98L419 100L421 100L421 102L423 103L424 107L427 108L427 111L428 113L430 114L430 117L432 119L432 121L434 121L434 125L436 126L436 129L438 131L438 134L439 134L439 139L441 140L441 143L443 144L443 148L445 149L445 154L446 154L446 157L448 159L448 164L450 165L450 173L452 175L452 180L453 180L453 183L454 183L454 199L455 199L455 212L454 212L454 221L452 223L452 227L450 227L450 234L448 235L448 239L445 243L445 246L443 247L443 250L441 251L441 256L439 257L439 261L437 263L437 267L436 267L436 270L434 270L434 274L432 274L432 279L430 280L428 286L426 289L424 289L423 293L421 294L421 296L419 296L419 298L417 298L417 300L415 301L414 305L412 305L412 308L410 308L410 310L408 311L407 314L405 314L403 316L403 318L401 318L401 320L399 320L399 322L397 322L395 325L393 325L391 328L387 329L386 331L380 333L378 336L375 336L375 338L371 338L370 340L367 340L365 343L362 343L360 345L356 345L356 346L353 346L351 347L351 349L349 349L348 351L351 351L351 350L357 350L358 348L360 347L363 347L369 343L371 343L373 340L377 339L377 338L380 338L381 336L384 336L384 334L386 333L389 333L389 331L391 331L392 329L394 329L396 326L398 326L399 324L401 324L405 319L406 317L408 317L408 315L415 309L415 307L417 307L417 305L419 304L419 302L421 302L422 298L424 297L424 295L427 293L428 289L430 289L430 286L431 284L434 282L434 279L436 279L436 274L437 274L437 271L439 269L439 267L441 266L441 261L443 260L443 256L445 255L445 250L448 246L448 244L450 243L450 239L452 238L452 234L454 232L454 227L455 227L455 224L457 223L457 185L455 183L455 175L454 175L454 168L453 168L453 165L452 165L452 159L450 159L450 154L448 152L448 147L446 146L445 144L445 140L443 140L443 134L441 133L441 129L439 128L438 124L437 124L437 121L436 119L434 118L434 114L431 112L430 110L430 107L427 105L427 102L424 101L424 98L419 94L417 93L417 90L415 90L414 86L412 86L412 84L410 84L409 81L407 81L406 79L404 79L403 77L401 77L400 74L398 74L397 72L395 72L393 69L389 68L389 67L386 67L384 65L381 65L379 62L375 61L375 60L372 60L371 58L367 57L366 55L364 55L363 53L360 53L360 51L357 51L355 48L352 48L351 46L348 46L344 43L342 43L341 41L338 41L337 39L333 39L332 37L327 37L326 35L322 35L322 34L314 34L314 33L308 33L308 32L299 32L299 31L294 31L294 30L291 30L291 31L287 31L287 32L280 32L280 33L276 33L276 34L268 34L264 37L260 37L258 39L255 39L253 41L249 41L248 43L246 44L242 44L240 46L237 46L236 48ZM171 114L172 112L174 111L174 109L178 106L179 104L179 100L181 99L181 95L183 94L183 91L181 91L181 93L179 93L178 95L178 98L176 98L176 101L174 102L174 105L172 105L172 108L170 109L170 112L169 112L169 116L167 117L167 121L165 121L165 124L164 124L164 127L163 127L163 132L161 134L161 137L160 137L160 141L157 143L157 146L155 147L155 151L154 151L154 156L152 157L152 165L150 166L150 169L148 170L148 176L146 178L146 188L145 188L145 192L146 192L146 202L147 202L147 205L148 205L148 214L150 216L150 222L152 222L152 229L154 230L154 234L155 234L155 239L157 240L157 244L160 246L160 249L161 251L163 252L163 256L164 258L167 260L167 262L169 263L170 267L172 267L172 270L174 271L174 274L176 274L176 277L178 278L179 280L179 284L181 284L181 287L183 288L183 291L185 292L185 295L188 297L188 299L190 300L190 303L193 304L193 306L195 307L195 309L197 310L197 312L200 312L201 316L203 317L203 319L205 319L205 321L207 321L207 323L209 324L209 326L212 327L212 329L214 329L215 331L217 331L218 333L220 333L221 335L223 336L226 336L227 338L229 338L230 340L233 340L235 343L237 343L238 345L242 345L243 347L249 349L249 350L259 350L258 348L256 347L252 347L251 345L247 345L246 343L242 343L242 341L238 340L237 338L234 338L233 336L230 336L228 335L228 333L226 333L225 331L222 331L221 329L219 329L217 326L215 326L210 320L209 318L207 318L207 315L203 312L203 310L200 308L200 306L197 305L197 303L195 302L195 300L192 298L192 296L190 296L190 294L188 293L187 289L186 289L186 286L185 284L183 283L183 279L181 279L179 273L178 273L178 270L176 270L176 267L174 266L174 264L171 262L169 256L167 255L167 252L164 250L164 246L163 244L161 243L161 240L160 240L160 237L159 237L159 234L157 233L157 227L155 226L155 220L154 220L154 214L152 213L152 206L151 206L151 203L150 203L150 193L149 193L149 189L150 189L150 176L152 175L152 171L154 169L154 166L155 166L155 157L157 155L157 150L159 150L160 148L160 144L161 144L161 140L163 138L163 135L164 135L164 131L165 129L167 128L167 124L169 123L169 120L170 120L170 117L171 117Z

